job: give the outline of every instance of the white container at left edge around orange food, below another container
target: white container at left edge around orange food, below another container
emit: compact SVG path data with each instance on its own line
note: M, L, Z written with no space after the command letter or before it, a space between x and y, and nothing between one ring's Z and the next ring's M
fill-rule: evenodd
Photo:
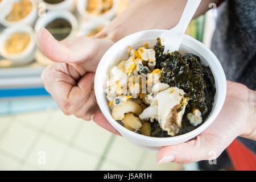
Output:
M5 51L5 43L16 32L24 32L30 35L30 44L24 51L17 54L10 54ZM30 26L12 26L3 30L0 41L0 52L5 59L14 61L14 64L22 65L31 63L35 54L35 34Z

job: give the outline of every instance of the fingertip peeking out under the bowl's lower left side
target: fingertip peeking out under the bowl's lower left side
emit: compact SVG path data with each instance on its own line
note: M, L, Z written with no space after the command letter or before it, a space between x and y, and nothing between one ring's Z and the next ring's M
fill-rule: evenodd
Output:
M115 130L115 128L112 125L110 125L108 120L104 117L104 115L101 112L96 113L92 119L94 122L97 123L97 125L103 127L104 129L110 131L111 133L122 136L117 130Z

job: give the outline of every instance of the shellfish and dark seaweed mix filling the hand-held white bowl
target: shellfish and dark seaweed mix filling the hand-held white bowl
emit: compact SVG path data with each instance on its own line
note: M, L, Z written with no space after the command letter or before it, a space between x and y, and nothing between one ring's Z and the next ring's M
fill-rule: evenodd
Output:
M216 92L212 72L198 56L163 51L159 38L152 48L129 47L129 58L110 70L105 83L113 119L150 137L173 137L199 127Z

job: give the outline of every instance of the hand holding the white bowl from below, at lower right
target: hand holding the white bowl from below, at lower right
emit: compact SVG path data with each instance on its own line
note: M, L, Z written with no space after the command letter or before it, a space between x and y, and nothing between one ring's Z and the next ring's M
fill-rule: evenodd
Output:
M224 106L212 125L188 142L161 148L156 157L157 162L159 164L167 162L186 164L199 160L213 160L236 137L255 139L256 123L253 122L255 121L253 113L255 105L250 102L254 100L252 95L255 96L255 91L248 89L245 85L227 81ZM94 121L105 129L117 133L102 113L97 113Z

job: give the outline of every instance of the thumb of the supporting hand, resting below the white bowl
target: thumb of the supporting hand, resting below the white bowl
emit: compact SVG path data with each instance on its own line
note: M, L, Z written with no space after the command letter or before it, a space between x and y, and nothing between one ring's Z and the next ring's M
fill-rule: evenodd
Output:
M199 160L213 160L224 148L216 139L199 135L195 140L161 148L156 160L158 164L167 162L187 164Z

